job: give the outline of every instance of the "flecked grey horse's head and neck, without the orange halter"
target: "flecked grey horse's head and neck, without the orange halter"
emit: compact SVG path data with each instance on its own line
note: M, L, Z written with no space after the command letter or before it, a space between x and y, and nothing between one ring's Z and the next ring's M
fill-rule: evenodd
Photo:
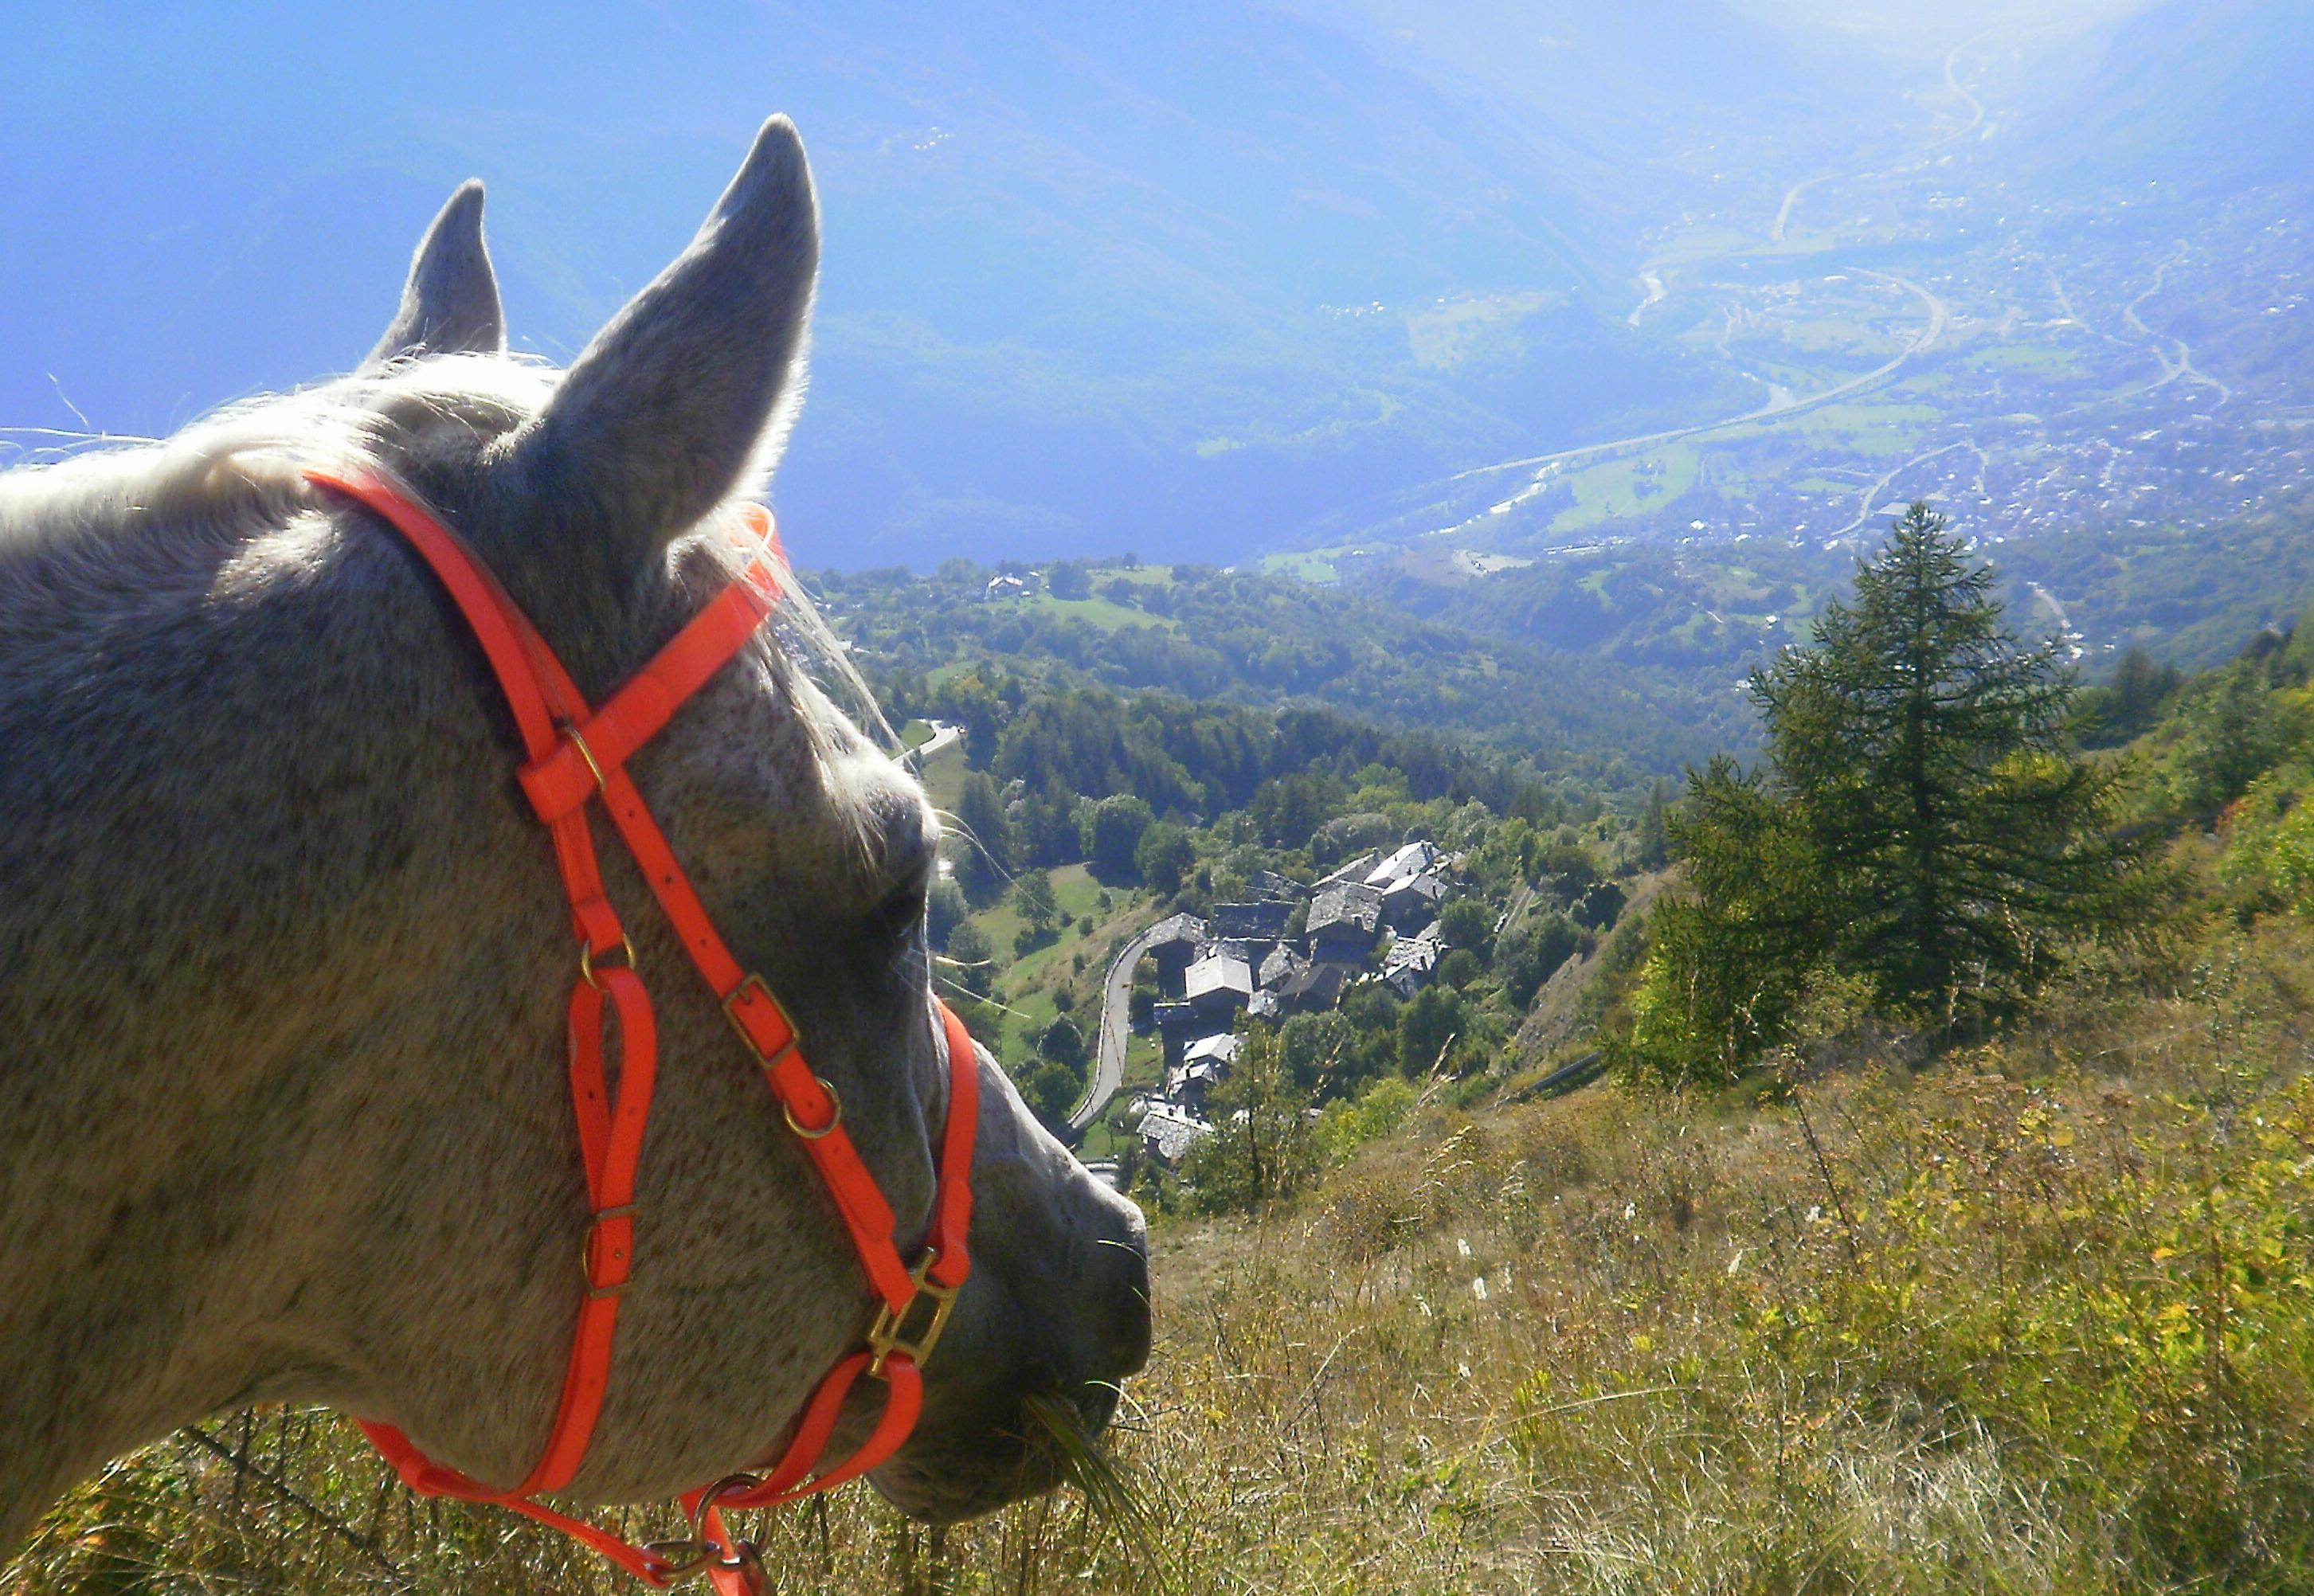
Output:
M815 273L775 118L555 372L504 354L467 185L352 377L0 476L0 1547L109 1455L252 1399L391 1423L493 1485L535 1462L588 1219L555 865L463 622L303 470L407 483L599 699L729 581L708 532L780 453ZM937 823L805 673L817 620L784 615L632 773L840 1089L907 1251L946 1101ZM569 1494L636 1501L773 1455L872 1302L713 992L604 860L659 1087ZM1148 1355L1141 1214L986 1055L979 1078L974 1272L872 1476L926 1520L1051 1487L1023 1397L1097 1427ZM872 1418L854 1402L838 1446Z

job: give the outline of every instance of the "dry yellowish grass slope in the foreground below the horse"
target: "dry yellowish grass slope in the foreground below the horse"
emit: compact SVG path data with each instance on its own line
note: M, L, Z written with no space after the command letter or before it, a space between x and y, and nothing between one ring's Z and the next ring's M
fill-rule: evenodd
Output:
M1430 1110L1291 1210L1159 1226L1099 1513L933 1536L847 1492L754 1531L775 1589L2309 1589L2300 944L2085 981L1921 1076ZM171 1443L9 1584L618 1584L384 1490L333 1425L220 1434L345 1534Z

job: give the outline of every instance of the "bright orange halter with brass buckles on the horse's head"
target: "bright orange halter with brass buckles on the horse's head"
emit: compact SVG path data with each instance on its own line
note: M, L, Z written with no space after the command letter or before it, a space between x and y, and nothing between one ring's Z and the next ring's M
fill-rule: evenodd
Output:
M546 1453L521 1485L493 1490L456 1469L428 1462L410 1443L410 1436L391 1425L363 1423L361 1427L414 1492L491 1501L528 1513L585 1540L650 1584L706 1571L722 1596L759 1591L761 1571L754 1564L754 1552L724 1534L720 1508L791 1501L865 1473L900 1448L923 1411L923 1360L939 1342L956 1293L972 1270L965 1254L965 1231L972 1224L972 1138L979 1122L979 1066L972 1036L963 1020L942 1004L939 1015L949 1045L949 1120L939 1143L939 1191L933 1203L933 1224L923 1240L923 1254L909 1268L891 1240L896 1224L891 1203L884 1200L875 1175L868 1173L845 1133L835 1087L812 1073L787 1008L771 995L764 978L740 969L731 948L715 934L715 923L699 902L699 893L692 891L625 768L627 759L666 726L683 701L699 692L771 620L780 601L771 564L757 551L740 546L740 553L747 555L740 576L595 710L588 708L530 618L474 557L474 551L407 490L366 472L315 470L305 476L319 488L331 488L363 504L391 525L433 567L472 627L498 685L507 694L507 705L514 710L514 724L528 754L518 779L553 840L572 930L578 937L578 981L572 985L569 999L569 1085L592 1221L583 1254L585 1298L578 1302L578 1328L572 1335L562 1399L546 1436ZM747 520L757 537L766 544L775 541L768 511L750 507ZM634 944L604 895L595 858L588 800L597 796L602 796L611 823L659 900L659 909L683 939L692 965L722 1002L724 1015L754 1055L757 1069L764 1071L787 1129L796 1133L819 1168L879 1302L868 1344L821 1376L773 1471L764 1478L738 1473L690 1492L683 1506L692 1515L692 1538L650 1545L629 1545L606 1529L583 1524L535 1501L541 1492L562 1490L578 1473L595 1434L595 1420L602 1413L604 1392L611 1386L611 1337L618 1328L620 1293L627 1288L634 1263L634 1173L643 1152L657 1076L650 995L634 969ZM613 955L620 955L622 962L604 962ZM604 1078L606 1006L618 1020L620 1036L616 1096ZM923 1305L921 1311L919 1305ZM884 1383L884 1416L852 1457L815 1476L812 1469L826 1450L842 1402L861 1374Z

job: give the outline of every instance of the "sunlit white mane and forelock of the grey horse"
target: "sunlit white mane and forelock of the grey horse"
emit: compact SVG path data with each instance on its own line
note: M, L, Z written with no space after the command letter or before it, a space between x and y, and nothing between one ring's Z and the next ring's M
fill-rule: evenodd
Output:
M86 606L95 594L118 592L123 562L155 537L241 544L278 530L312 511L310 467L368 465L398 474L398 435L433 428L504 435L546 405L560 375L523 354L433 354L236 400L160 439L42 433L58 442L25 449L23 463L0 470L0 611ZM740 507L764 486L743 483L697 532L736 530ZM724 560L727 539L708 546ZM831 712L842 719L849 710L886 752L898 752L900 738L784 553L766 551L766 560L784 592L771 629L778 645L768 652L787 675L784 696L803 719L847 830L868 849L868 819L852 814L856 805L842 803L842 784L833 779L840 731ZM819 692L796 692L801 682Z

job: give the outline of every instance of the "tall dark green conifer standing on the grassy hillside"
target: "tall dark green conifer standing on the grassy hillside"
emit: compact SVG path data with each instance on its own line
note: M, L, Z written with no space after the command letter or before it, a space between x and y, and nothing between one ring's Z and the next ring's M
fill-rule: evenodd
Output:
M1819 856L1830 960L1884 1004L2009 990L2110 909L2127 860L2110 773L2064 742L2073 678L2002 625L1992 569L1928 504L1752 696Z

